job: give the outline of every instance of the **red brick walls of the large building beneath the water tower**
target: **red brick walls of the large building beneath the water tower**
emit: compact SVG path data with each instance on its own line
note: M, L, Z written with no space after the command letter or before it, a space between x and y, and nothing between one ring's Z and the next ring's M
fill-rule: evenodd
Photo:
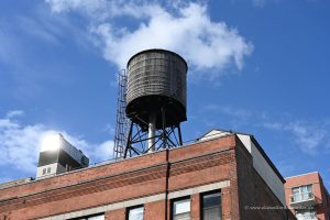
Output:
M107 220L120 220L125 218L125 207L134 202L144 204L145 220L169 220L170 201L165 200L169 193L227 182L230 185L221 189L223 219L282 219L279 211L264 217L262 211L242 208L245 204L278 204L251 163L251 155L235 135L155 152L1 189L0 220L91 209L106 212ZM191 218L200 219L200 194L193 191L190 199Z

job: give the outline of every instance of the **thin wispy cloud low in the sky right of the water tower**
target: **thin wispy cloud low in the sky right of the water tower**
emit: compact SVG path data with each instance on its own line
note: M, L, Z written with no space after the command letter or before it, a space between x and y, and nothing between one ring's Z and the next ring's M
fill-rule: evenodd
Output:
M276 132L285 132L285 135L293 141L304 153L316 155L321 151L329 152L330 150L330 123L329 121L307 121L292 119L276 119L274 116L268 116L266 112L250 111L242 108L209 103L201 107L202 111L217 111L219 114L228 117L227 122L230 122L234 129L240 129L242 125L253 125L270 129ZM217 127L216 121L207 121L209 127ZM237 127L237 128L235 128ZM283 135L283 134L282 134Z

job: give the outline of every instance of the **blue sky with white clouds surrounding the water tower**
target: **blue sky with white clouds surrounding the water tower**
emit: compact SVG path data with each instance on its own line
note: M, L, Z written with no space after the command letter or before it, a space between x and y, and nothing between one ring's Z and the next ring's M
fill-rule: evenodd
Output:
M189 65L184 140L252 133L284 176L330 186L330 2L0 2L0 182L35 175L41 138L62 132L111 158L117 73L162 47Z

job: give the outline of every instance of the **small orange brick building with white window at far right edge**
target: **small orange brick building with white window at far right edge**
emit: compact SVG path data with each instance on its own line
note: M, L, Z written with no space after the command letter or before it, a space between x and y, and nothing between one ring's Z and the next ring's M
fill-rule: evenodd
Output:
M285 195L298 220L330 220L330 197L318 172L287 177Z

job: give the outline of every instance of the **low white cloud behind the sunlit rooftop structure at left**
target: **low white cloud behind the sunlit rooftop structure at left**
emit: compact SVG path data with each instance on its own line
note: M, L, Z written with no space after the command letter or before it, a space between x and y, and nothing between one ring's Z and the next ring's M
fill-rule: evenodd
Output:
M80 148L91 162L112 158L113 142L89 143L66 131L54 131L44 124L22 124L14 117L22 111L10 111L0 118L0 167L14 168L34 175L42 138L50 132L62 133L73 145Z

